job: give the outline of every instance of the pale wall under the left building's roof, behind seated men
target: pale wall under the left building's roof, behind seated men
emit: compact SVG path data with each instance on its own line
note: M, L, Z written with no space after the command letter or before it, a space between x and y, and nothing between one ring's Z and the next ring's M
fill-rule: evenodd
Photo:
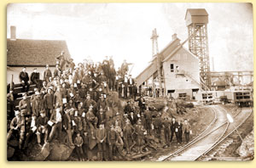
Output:
M23 67L7 67L7 73L6 73L7 83L10 83L11 75L14 75L15 83L20 83L19 75L20 75L20 71L22 70L22 68ZM37 68L38 72L40 73L40 79L43 80L45 67L26 67L26 72L27 72L28 76L29 77L31 76L34 68ZM49 70L51 70L51 72L53 73L55 70L55 67L49 67Z

